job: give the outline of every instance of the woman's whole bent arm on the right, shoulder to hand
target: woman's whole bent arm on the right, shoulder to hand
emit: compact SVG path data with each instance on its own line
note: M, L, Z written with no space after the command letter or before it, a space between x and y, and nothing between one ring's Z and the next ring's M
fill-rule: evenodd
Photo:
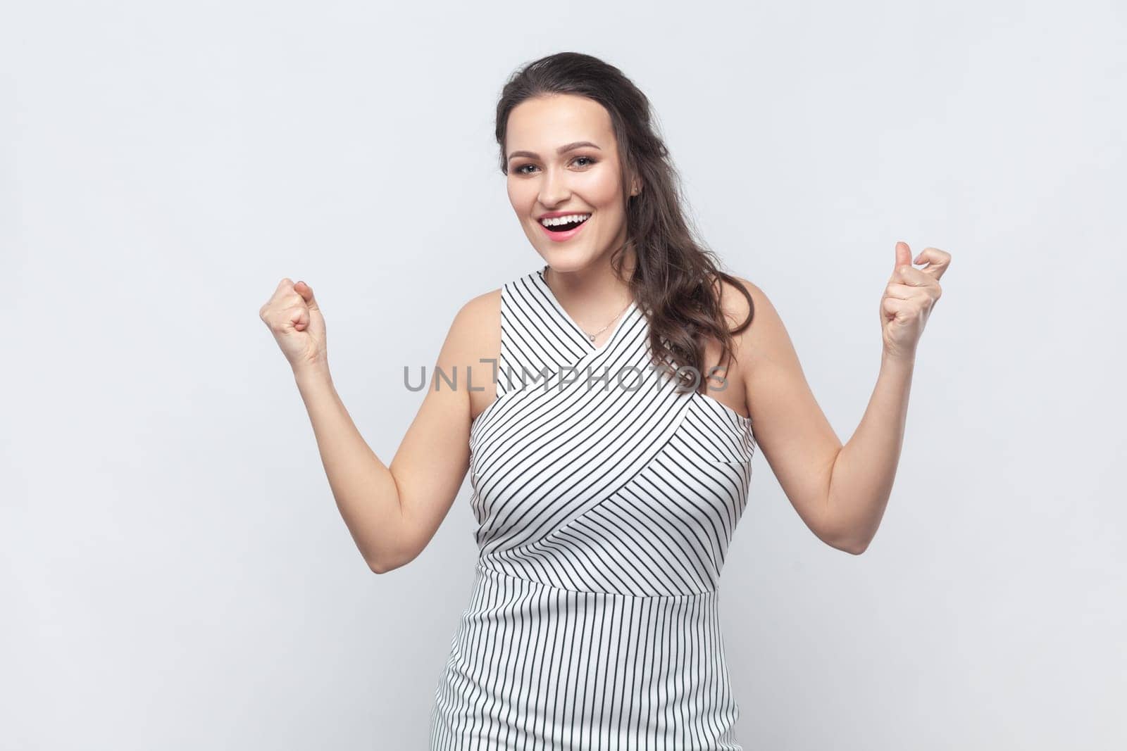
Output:
M810 392L778 311L762 289L738 279L755 305L737 351L747 352L740 370L756 444L810 530L827 545L853 554L863 553L872 540L891 494L915 345L939 298L938 278L950 261L946 252L929 248L917 262L926 259L931 266L914 269L907 245L902 244L881 299L880 374L869 406L844 446ZM733 311L737 321L746 313Z

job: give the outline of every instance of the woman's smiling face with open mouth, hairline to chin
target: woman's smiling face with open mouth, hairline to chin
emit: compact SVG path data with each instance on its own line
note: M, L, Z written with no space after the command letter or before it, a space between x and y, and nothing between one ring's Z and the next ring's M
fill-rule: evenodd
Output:
M526 99L509 113L505 141L508 199L549 266L585 268L625 242L618 144L602 105L575 95ZM541 217L552 213L589 217L576 230L551 232Z

